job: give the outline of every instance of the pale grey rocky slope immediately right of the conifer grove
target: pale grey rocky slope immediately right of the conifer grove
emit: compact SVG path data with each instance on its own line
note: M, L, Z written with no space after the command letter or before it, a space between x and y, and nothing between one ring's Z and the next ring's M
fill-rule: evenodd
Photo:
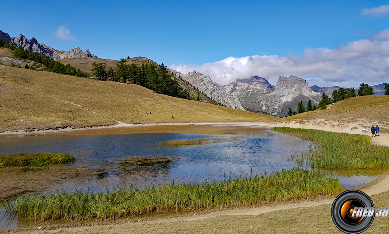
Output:
M197 73L196 71L189 72L188 74L182 74L179 71L169 69L177 77L181 76L182 79L188 81L190 84L198 88L199 91L205 93L213 100L218 103L221 103L227 107L245 110L245 108L240 103L240 100L229 96L223 89L216 86L210 76Z

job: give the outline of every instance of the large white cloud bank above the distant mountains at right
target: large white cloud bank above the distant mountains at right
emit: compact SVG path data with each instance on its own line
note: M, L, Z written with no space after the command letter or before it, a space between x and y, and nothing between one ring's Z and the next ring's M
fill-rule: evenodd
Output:
M254 75L264 77L271 84L276 84L280 75L299 76L307 79L310 85L318 86L381 84L389 82L389 29L335 49L306 48L301 56L228 57L203 65L173 64L170 68L182 73L196 70L221 85Z

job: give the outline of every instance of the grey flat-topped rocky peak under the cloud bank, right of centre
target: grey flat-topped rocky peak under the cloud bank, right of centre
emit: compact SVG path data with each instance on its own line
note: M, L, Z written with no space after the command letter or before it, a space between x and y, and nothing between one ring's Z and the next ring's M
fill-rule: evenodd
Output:
M278 78L274 91L258 99L258 112L278 117L287 116L288 108L296 109L300 101L306 105L311 100L318 106L321 93L312 91L305 79L297 76Z

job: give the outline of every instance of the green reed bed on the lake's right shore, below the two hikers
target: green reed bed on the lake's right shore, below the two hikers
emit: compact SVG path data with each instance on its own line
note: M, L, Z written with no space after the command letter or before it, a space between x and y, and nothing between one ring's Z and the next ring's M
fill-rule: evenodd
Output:
M317 168L374 168L389 166L389 147L371 144L371 137L313 129L276 127L275 131L301 134L314 143L312 153L297 157L298 163Z

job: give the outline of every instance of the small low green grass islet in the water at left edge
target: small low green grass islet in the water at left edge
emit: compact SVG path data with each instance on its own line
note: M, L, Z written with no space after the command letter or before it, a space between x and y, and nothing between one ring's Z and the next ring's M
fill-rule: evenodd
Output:
M68 154L59 153L18 153L0 156L2 167L39 167L57 163L72 163L76 159Z

